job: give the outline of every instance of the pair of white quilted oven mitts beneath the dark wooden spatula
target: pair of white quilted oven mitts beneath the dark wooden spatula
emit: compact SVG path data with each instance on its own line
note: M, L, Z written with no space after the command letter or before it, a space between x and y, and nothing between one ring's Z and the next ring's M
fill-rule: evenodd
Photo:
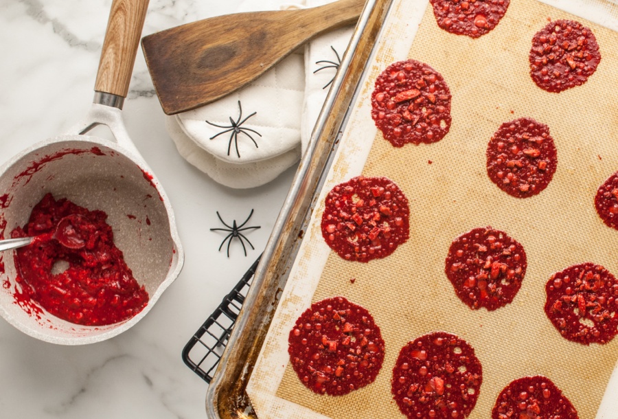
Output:
M313 6L329 1L307 2ZM239 11L302 7L283 0L247 0ZM166 117L180 155L230 188L255 188L275 179L299 160L301 142L306 149L330 84L323 87L334 77L339 61L330 46L341 57L351 34L352 27L325 34L306 46L304 57L290 54L247 87ZM316 64L319 60L332 63ZM323 66L327 67L316 71Z

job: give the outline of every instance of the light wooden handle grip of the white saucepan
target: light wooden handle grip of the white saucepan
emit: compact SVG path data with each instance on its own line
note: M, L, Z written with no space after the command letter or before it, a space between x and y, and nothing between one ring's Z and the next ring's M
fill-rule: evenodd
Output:
M112 3L95 91L126 98L149 0Z

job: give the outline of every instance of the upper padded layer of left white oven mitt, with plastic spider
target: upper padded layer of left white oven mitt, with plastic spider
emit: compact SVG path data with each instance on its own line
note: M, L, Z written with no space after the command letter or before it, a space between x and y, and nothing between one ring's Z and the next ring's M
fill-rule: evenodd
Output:
M265 161L299 146L303 89L303 57L290 54L247 87L176 114L176 122L227 163Z

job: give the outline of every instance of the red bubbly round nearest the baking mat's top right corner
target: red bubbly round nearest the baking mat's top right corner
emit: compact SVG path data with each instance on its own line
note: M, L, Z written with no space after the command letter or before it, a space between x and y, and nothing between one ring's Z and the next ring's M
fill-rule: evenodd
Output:
M560 93L584 84L601 61L593 32L579 22L559 20L532 37L530 76L538 87Z

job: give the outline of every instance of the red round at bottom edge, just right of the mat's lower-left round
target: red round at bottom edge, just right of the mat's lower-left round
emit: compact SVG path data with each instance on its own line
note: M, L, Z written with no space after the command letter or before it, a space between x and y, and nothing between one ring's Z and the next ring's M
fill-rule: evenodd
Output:
M466 418L477 403L482 381L474 349L455 335L433 332L399 352L391 392L408 418Z

